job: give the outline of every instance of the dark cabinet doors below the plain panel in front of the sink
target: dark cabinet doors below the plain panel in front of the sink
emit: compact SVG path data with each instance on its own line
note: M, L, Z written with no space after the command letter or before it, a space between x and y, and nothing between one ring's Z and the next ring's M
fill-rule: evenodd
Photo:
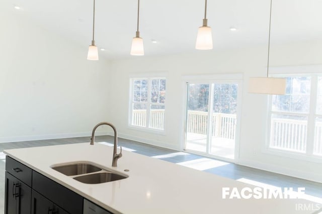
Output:
M59 207L57 204L48 200L35 190L32 190L31 194L31 213L33 214L68 214L65 210Z

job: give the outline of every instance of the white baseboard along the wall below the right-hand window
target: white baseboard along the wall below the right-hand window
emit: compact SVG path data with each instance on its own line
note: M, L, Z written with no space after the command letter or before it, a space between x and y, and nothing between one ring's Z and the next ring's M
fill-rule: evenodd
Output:
M255 162L251 160L239 159L238 163L236 164L322 183L322 175L320 173L298 171L287 167L276 166L276 165L267 164L263 162Z

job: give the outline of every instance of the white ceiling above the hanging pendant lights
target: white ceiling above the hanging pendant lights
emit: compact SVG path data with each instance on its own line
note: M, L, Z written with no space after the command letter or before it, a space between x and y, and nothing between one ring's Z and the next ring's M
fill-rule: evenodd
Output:
M84 47L92 40L93 0L13 0L0 5L22 9L42 27ZM214 50L267 44L270 0L208 0L207 19ZM318 39L322 36L322 1L273 0L271 43ZM123 59L135 36L137 0L96 0L95 41L100 57ZM140 36L145 56L162 56L194 49L202 25L204 0L141 0ZM230 27L237 28L231 32ZM156 40L157 43L151 43Z

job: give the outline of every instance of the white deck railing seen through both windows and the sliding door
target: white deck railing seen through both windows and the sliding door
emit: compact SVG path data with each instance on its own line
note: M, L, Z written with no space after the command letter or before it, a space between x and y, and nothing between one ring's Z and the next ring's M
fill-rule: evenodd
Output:
M163 109L150 111L150 128L164 128ZM235 139L236 115L212 114L212 136ZM187 132L207 135L208 113L188 111ZM301 120L272 118L270 147L290 151L306 151L307 122ZM132 125L146 126L146 110L133 110ZM314 154L322 155L322 122L315 124Z

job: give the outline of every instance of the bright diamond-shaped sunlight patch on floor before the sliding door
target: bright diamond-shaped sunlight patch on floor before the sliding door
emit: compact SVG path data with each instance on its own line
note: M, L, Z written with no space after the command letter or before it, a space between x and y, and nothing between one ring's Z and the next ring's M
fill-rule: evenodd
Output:
M189 160L189 161L180 162L177 164L182 165L182 166L187 166L187 167L190 167L193 169L206 170L206 169L211 169L211 168L215 168L218 166L228 165L230 163L223 162L220 160L213 160L213 159L209 159L209 158L205 157L205 158L199 158L196 160Z

